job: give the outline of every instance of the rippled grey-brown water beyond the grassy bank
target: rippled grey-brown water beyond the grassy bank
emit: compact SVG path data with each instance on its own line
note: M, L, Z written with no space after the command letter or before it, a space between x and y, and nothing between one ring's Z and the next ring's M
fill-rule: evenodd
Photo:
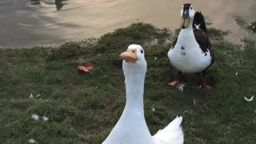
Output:
M98 37L144 21L160 28L179 28L185 0L0 0L0 46L60 44ZM230 30L239 42L246 32L230 15L255 20L255 0L190 0L195 10L212 19L212 27Z

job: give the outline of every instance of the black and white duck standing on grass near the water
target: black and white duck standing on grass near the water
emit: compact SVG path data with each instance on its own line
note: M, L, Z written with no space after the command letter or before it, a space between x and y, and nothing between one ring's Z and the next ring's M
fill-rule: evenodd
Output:
M208 38L204 16L194 11L191 4L183 4L181 11L180 34L168 52L168 58L178 70L178 78L169 83L180 89L183 86L182 73L202 72L199 88L211 89L205 81L206 70L214 63L214 53Z

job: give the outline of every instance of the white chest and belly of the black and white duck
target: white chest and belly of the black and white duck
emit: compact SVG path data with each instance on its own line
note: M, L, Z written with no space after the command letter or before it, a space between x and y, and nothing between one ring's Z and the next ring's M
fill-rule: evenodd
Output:
M210 51L203 52L196 42L192 26L182 29L174 48L168 52L170 63L184 73L196 73L206 69L211 63Z

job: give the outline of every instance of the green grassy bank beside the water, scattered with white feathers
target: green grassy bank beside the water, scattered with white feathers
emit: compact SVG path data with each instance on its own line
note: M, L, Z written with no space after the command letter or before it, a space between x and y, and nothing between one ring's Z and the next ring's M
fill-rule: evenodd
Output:
M167 58L175 33L151 24L139 22L58 47L1 48L0 143L24 144L30 138L38 144L103 142L125 104L118 55L128 45L140 44L148 62L144 109L151 134L179 115L184 118L185 144L254 144L256 103L244 96L256 94L256 41L244 38L244 44L237 45L224 39L226 31L208 31L216 62L207 80L215 88L204 95L194 88L200 74L185 75L184 92L167 85L177 74ZM76 66L84 62L92 62L94 69L78 72ZM40 120L32 120L32 114Z

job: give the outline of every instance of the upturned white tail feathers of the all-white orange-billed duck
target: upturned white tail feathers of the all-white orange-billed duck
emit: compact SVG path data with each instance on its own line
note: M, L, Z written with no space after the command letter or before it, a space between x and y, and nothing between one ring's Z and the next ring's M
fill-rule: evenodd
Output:
M184 136L181 122L182 116L177 116L168 126L152 136L154 142L156 144L183 144Z

